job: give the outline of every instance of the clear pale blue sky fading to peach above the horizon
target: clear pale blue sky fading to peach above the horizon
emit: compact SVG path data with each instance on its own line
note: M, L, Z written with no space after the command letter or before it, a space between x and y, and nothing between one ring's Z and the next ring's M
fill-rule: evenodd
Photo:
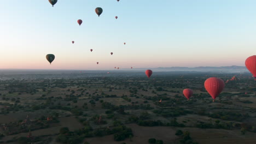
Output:
M59 0L54 7L48 0L3 1L0 69L244 66L256 53L255 6L255 0ZM51 65L48 53L56 57Z

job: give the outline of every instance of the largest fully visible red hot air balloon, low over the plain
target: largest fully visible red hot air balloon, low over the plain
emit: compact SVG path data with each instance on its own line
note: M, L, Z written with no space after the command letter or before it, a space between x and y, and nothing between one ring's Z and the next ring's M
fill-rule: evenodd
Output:
M217 77L211 77L205 81L205 89L212 96L214 100L223 91L224 87L225 87L224 81Z

